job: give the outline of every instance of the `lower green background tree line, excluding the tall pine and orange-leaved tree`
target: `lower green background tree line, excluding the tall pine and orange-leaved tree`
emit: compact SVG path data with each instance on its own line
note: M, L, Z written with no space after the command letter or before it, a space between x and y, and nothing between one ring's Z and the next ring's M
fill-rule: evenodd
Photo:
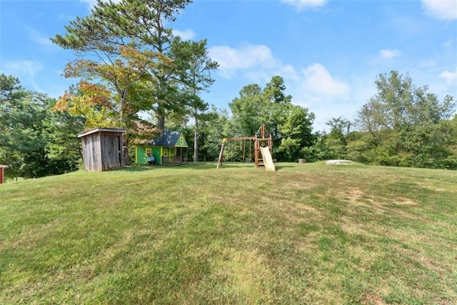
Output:
M229 103L230 111L215 106L202 111L198 131L189 115L171 116L164 129L184 132L191 161L196 161L194 156L198 161L215 161L221 139L253 136L266 124L273 137L273 158L278 161L351 159L364 164L457 169L453 97L438 101L426 86L414 86L408 75L397 71L378 75L375 84L378 93L356 118L331 119L326 123L329 132L313 131L314 114L292 103L281 76L273 76L263 88L244 86ZM19 79L0 74L0 164L9 166L7 178L64 174L79 168L81 143L76 135L84 130L87 118L72 114L71 109L56 110L56 105L59 100L27 91ZM194 137L195 132L198 136ZM194 139L198 145L194 146ZM243 143L243 150L238 145L226 151L227 159L248 158L249 144Z

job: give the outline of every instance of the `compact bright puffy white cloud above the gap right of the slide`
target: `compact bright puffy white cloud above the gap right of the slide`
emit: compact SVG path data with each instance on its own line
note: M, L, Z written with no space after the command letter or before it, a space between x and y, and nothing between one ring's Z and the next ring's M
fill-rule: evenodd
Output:
M343 81L333 79L325 66L313 64L303 71L302 83L304 91L318 96L347 96L349 86Z

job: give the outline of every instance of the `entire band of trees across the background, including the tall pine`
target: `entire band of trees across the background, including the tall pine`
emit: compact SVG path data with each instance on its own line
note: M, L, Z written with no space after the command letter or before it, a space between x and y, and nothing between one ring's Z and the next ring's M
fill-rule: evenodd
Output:
M378 93L356 119L333 118L328 133L313 131L314 114L293 104L281 76L263 88L244 86L229 103L230 111L210 107L201 93L214 83L211 73L219 64L209 58L206 39L184 41L169 27L190 2L98 1L89 16L76 17L65 34L51 39L76 56L64 76L79 82L59 99L27 91L19 79L1 74L0 164L9 166L6 175L30 178L76 170L81 163L76 134L94 127L126 129L127 147L167 129L181 130L191 161L214 161L221 139L253 136L261 124L273 136L278 161L351 159L457 168L453 97L438 101L427 86L413 85L398 71L379 74ZM226 153L233 160L246 156L241 144Z

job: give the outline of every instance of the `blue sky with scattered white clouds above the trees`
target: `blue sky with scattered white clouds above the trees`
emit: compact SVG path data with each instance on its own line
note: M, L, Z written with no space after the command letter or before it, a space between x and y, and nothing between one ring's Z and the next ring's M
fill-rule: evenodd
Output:
M0 73L29 90L58 97L75 79L62 70L75 58L51 43L91 0L1 0ZM219 61L211 92L219 109L247 84L280 75L293 103L316 114L315 130L353 119L376 94L380 73L409 73L416 86L457 98L457 1L196 0L174 24L184 39L208 39Z

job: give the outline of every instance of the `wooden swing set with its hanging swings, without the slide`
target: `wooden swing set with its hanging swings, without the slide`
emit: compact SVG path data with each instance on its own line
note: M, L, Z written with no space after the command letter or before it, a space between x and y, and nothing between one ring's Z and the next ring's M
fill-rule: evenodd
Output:
M224 138L222 139L222 145L221 145L221 152L219 153L219 159L217 161L217 166L216 169L219 169L219 166L222 166L222 162L224 161L224 145L226 144L227 141L231 141L231 157L233 161L233 144L235 146L235 149L239 147L240 149L243 149L243 160L246 161L246 141L249 142L249 158L252 160L252 145L251 141L253 141L253 151L254 151L254 164L256 167L262 167L265 166L263 163L263 155L261 154L261 148L263 147L268 147L268 150L270 151L273 148L273 141L271 140L271 134L268 134L268 136L265 135L265 124L261 124L261 126L258 128L258 131L256 132L255 136L236 136L233 138ZM239 146L236 145L237 141L240 141Z

